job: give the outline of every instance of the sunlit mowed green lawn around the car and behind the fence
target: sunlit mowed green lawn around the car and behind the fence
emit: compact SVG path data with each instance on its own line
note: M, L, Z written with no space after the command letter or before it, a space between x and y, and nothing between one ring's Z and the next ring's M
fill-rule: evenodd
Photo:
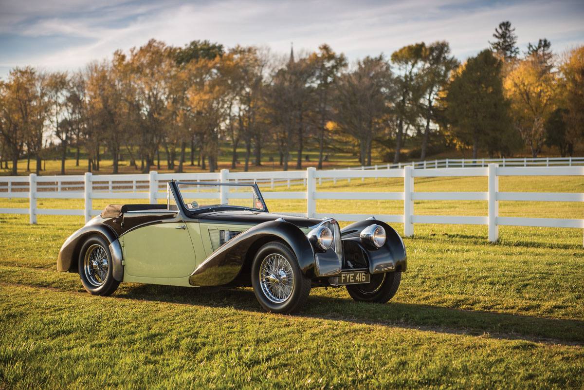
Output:
M581 177L542 179L501 177L500 190L584 192ZM403 186L353 179L318 190L332 188ZM416 179L415 189L485 191L486 178ZM0 207L27 206L0 199ZM305 201L268 206L305 211ZM81 208L82 201L39 200L39 207ZM398 201L317 204L319 213L402 208ZM415 203L415 213L426 215L486 209L484 201ZM501 202L500 215L584 218L584 204ZM408 271L388 304L318 288L298 314L274 315L259 310L248 288L122 284L112 297L93 297L77 274L55 270L62 242L82 224L40 215L32 226L27 215L0 214L0 389L584 386L580 229L501 227L500 241L489 243L482 226L415 225L404 240Z

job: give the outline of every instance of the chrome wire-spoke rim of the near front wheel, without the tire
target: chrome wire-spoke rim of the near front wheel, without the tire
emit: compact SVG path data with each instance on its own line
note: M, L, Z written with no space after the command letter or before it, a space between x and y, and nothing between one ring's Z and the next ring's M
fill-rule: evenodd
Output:
M294 273L290 261L278 253L267 255L259 268L262 292L270 301L285 302L294 289Z

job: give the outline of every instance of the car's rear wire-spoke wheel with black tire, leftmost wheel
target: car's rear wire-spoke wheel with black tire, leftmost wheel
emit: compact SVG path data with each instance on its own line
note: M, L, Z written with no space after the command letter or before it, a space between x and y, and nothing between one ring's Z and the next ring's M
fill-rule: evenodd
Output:
M89 266L91 259L88 258L88 264L86 264L86 257L92 255L101 261ZM106 260L106 263L103 263L103 260ZM112 275L112 253L110 253L109 244L99 235L92 235L84 242L79 251L78 270L81 283L89 294L112 295L120 285L120 282Z

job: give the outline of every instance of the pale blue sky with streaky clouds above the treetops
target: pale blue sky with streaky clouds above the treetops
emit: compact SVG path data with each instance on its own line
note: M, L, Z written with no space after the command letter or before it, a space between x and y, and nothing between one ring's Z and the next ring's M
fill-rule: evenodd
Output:
M584 44L584 0L576 1L123 1L0 0L0 77L32 65L47 71L85 67L149 39L183 46L208 39L275 53L328 43L350 61L420 41L449 41L464 61L488 47L510 20L522 52L547 38L561 53Z

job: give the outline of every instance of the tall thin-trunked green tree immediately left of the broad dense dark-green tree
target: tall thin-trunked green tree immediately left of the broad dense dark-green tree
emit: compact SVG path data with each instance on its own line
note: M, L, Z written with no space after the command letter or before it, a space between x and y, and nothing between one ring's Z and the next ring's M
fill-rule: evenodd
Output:
M434 42L426 47L422 57L420 71L420 90L423 92L419 100L420 112L425 119L420 159L426 159L426 150L430 138L430 123L434 121L434 100L438 92L447 84L450 72L458 66L456 58L450 55L450 46L446 41Z

